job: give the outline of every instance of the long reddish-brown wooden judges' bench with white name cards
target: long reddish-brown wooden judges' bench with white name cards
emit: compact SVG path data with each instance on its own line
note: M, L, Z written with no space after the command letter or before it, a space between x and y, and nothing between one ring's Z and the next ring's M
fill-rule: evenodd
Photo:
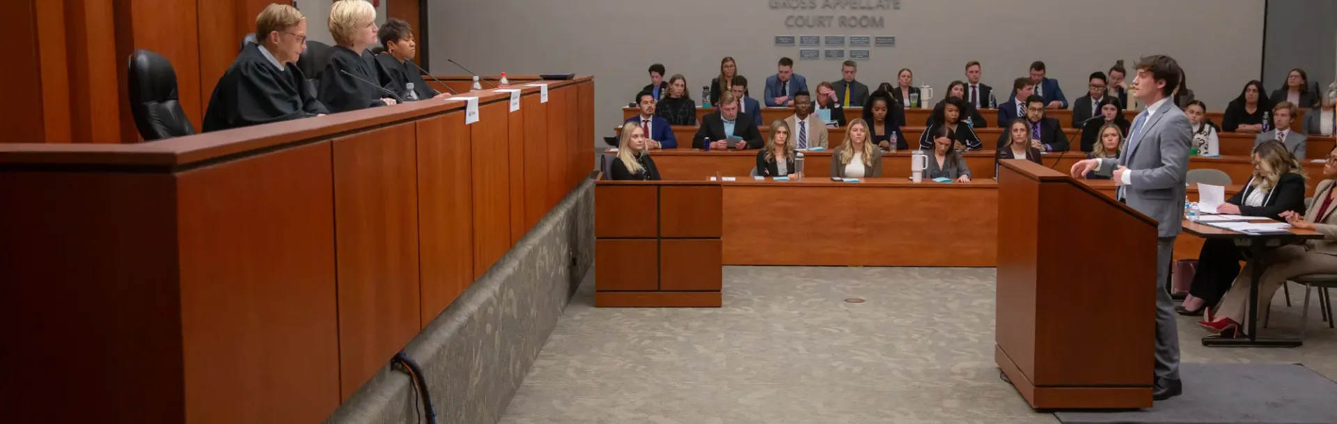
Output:
M0 143L5 419L325 420L588 178L594 80L548 83L468 94L472 124L428 99Z

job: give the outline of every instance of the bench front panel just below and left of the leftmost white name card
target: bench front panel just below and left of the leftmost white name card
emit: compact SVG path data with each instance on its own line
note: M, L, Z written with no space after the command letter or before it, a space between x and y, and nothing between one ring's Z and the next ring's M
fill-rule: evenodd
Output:
M417 123L422 325L473 282L469 127L455 111Z

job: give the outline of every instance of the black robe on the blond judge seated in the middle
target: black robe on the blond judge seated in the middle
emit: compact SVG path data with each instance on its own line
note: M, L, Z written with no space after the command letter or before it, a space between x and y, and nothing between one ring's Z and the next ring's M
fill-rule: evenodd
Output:
M344 72L352 74L349 76ZM356 78L354 78L356 76ZM361 79L361 80L358 80ZM320 100L330 112L346 112L385 106L381 98L392 98L377 88L380 83L374 67L362 55L344 45L330 48L330 62L317 84Z

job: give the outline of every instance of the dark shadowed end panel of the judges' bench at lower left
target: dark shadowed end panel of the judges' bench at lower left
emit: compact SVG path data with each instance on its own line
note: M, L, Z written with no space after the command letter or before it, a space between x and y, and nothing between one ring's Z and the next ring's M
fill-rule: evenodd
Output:
M182 423L171 177L0 173L0 198L25 199L0 207L5 421Z

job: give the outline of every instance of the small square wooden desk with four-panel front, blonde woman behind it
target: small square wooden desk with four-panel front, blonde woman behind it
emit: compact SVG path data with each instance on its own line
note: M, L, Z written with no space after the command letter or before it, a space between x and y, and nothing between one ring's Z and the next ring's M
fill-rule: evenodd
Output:
M719 308L719 182L602 177L594 189L595 306Z

